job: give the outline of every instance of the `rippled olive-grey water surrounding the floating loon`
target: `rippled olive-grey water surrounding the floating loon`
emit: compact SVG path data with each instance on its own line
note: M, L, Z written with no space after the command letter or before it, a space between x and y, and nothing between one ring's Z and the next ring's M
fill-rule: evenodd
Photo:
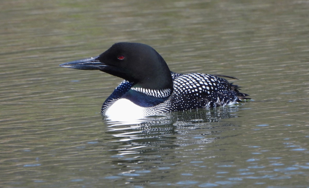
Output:
M309 1L0 5L1 187L308 187ZM253 100L104 119L121 79L58 65L120 41L238 77Z

